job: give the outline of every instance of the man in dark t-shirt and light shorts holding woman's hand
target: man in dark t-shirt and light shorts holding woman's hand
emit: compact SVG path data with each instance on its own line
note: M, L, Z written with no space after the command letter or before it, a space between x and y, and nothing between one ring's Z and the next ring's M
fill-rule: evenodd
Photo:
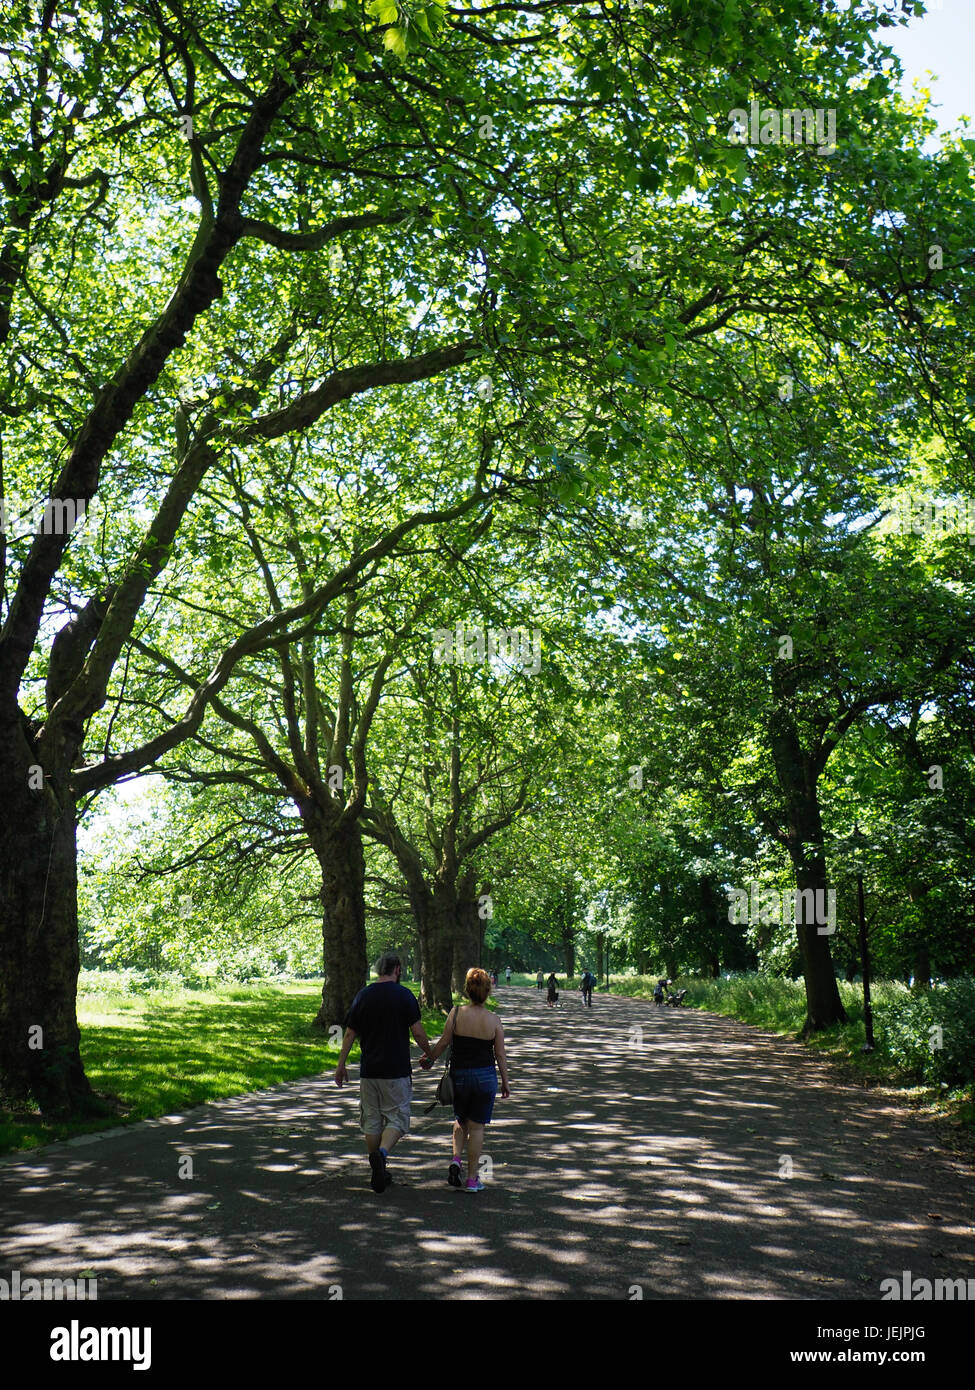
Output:
M430 1052L416 995L399 983L402 972L399 956L387 951L377 966L378 980L352 1001L335 1068L335 1086L342 1087L348 1080L345 1061L359 1038L359 1123L366 1136L369 1183L374 1193L384 1193L392 1182L387 1158L410 1127L413 1068L408 1030L423 1052Z

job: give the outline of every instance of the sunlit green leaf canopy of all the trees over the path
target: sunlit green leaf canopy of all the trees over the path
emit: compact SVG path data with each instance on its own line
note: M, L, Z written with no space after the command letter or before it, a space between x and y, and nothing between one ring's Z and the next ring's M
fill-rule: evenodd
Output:
M50 573L31 535L4 546L31 657L0 663L0 737L53 753L83 710L72 796L127 758L204 787L106 810L85 962L134 995L317 966L293 812L334 764L319 809L403 828L398 865L370 847L370 945L410 934L412 856L490 881L488 949L523 962L599 941L787 974L791 935L733 927L725 891L786 885L786 845L819 834L801 784L841 969L858 821L883 969L971 967L975 564L879 518L974 456L972 142L922 154L875 25L815 0L761 24L737 0L515 4L490 32L440 0L179 14L14 0L0 96L3 481L40 495L58 439L104 513ZM730 146L757 89L841 100L835 157ZM50 634L108 582L104 666L58 734ZM293 641L204 685L328 585ZM430 630L458 620L537 626L542 670L434 669ZM950 764L942 802L926 760ZM794 995L769 984L766 1017Z

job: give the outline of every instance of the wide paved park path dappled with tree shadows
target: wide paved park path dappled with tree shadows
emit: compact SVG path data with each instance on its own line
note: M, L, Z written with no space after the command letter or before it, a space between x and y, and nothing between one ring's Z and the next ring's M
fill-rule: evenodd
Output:
M975 1277L975 1175L889 1097L716 1015L498 994L512 1097L484 1193L448 1187L419 1069L395 1184L370 1191L357 1069L341 1093L325 1073L0 1162L0 1275L90 1269L99 1301L876 1300L903 1270Z

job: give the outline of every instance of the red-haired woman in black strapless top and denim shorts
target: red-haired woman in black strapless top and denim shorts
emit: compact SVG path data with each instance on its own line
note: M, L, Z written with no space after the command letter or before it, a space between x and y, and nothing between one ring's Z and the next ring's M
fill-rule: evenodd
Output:
M477 1165L484 1148L484 1126L491 1123L498 1094L495 1062L501 1072L501 1095L508 1099L508 1058L505 1030L497 1013L484 1008L491 991L491 977L485 970L469 970L463 984L470 1004L458 1005L446 1020L442 1036L421 1066L431 1065L452 1045L451 1076L453 1077L453 1152L446 1180L451 1187L467 1193L484 1190ZM462 1182L465 1145L467 1148L467 1182Z

